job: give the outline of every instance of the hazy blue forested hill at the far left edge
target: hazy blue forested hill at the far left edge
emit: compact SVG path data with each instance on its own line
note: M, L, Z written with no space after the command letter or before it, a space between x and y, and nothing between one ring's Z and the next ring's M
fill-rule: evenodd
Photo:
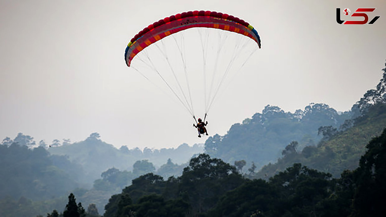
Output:
M69 175L54 162L76 168L66 159L50 156L42 147L29 149L12 143L0 145L0 199L27 197L44 200L59 197L78 187L77 173Z

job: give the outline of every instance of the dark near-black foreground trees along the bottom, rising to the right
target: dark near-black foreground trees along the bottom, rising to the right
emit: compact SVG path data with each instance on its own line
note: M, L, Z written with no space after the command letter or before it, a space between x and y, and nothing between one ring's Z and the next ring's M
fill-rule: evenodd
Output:
M359 168L335 179L295 163L267 180L249 180L228 163L201 154L190 160L180 177L164 181L147 173L134 179L109 199L104 216L383 216L386 129L366 148ZM18 203L29 204L25 198ZM80 213L81 204L76 205L72 194L66 210L69 207Z

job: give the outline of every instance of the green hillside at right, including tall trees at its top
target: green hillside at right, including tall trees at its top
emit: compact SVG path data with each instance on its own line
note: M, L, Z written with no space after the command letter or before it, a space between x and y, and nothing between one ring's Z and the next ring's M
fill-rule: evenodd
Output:
M287 153L276 163L263 167L254 177L270 177L293 163L331 173L334 177L340 176L345 169L357 168L361 155L366 151L366 144L386 128L386 67L382 71L383 77L376 89L367 91L352 106L351 120L330 132L330 136L326 132L327 137L317 146Z

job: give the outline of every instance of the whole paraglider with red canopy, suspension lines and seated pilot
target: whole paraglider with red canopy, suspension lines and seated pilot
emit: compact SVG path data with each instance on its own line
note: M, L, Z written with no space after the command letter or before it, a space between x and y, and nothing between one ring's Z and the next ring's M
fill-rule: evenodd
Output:
M180 34L190 31L188 29L205 29L205 32L198 30L200 42L193 42L191 40L185 42L185 38L189 39L191 33L186 33L186 36ZM218 33L212 33L208 29L213 29L213 31L217 31ZM224 35L223 32L228 32L228 34ZM175 35L180 35L180 39L175 37ZM233 39L232 35L240 36ZM212 39L212 37L217 37L217 39ZM164 43L164 38L174 39L175 44L173 40ZM234 45L232 45L231 42ZM254 43L248 44L251 42ZM154 44L158 50L155 49L155 51L147 52L146 48L152 44ZM189 45L192 45L194 48L200 48L202 55L200 51L188 50L188 52L186 52L186 47L189 47ZM194 100L192 99L191 93L204 92L204 114L206 118L214 99L218 95L220 87L223 86L225 78L229 77L229 72L232 70L234 72L240 71L245 62L247 62L257 50L257 47L261 48L260 36L257 34L256 29L244 20L226 13L203 10L189 11L166 17L141 30L127 45L125 61L128 67L133 68L149 81L152 79L149 78L146 71L156 72L155 75L160 78L158 78L160 82L166 84L169 91L176 96L194 119ZM210 51L212 51L213 54L210 54ZM156 54L154 54L156 57L151 57L151 54L154 52L156 52ZM189 55L191 56L188 57ZM137 64L135 67L132 66L134 57L138 59L138 61L134 61L135 64ZM162 57L164 57L165 62L163 65L159 64L160 59L163 59ZM175 60L172 59L173 57ZM179 57L181 61L178 61ZM224 57L228 59L224 59ZM239 59L241 59L239 65L235 66L235 62L237 62L235 60ZM192 73L190 70L196 72L197 69L193 68L198 67L197 65L201 60L201 69L203 71L202 83L204 87L199 91L191 91L189 83L190 79L192 79L190 77ZM189 65L189 61L193 63ZM140 64L143 65L145 70L140 69ZM161 67L164 68L161 69ZM179 73L180 71L184 73ZM168 76L168 72L171 72L169 73L169 79L166 77ZM210 72L212 74L210 74ZM171 82L174 81L176 84L171 84ZM199 118L198 122L196 121L197 125L193 124L198 130L198 137L201 137L201 134L204 133L208 135L205 128L207 122L204 123L205 118L204 121Z

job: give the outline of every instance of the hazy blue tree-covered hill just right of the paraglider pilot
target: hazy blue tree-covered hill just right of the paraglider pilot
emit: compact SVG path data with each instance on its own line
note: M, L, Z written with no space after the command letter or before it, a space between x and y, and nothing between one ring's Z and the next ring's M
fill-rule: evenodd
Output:
M351 116L351 112L338 113L322 103L311 103L295 113L267 105L262 113L232 125L225 135L209 137L205 142L205 152L231 164L245 160L249 167L253 161L259 169L278 160L291 141L298 141L300 149L316 145L322 138L318 136L320 126L338 128Z

